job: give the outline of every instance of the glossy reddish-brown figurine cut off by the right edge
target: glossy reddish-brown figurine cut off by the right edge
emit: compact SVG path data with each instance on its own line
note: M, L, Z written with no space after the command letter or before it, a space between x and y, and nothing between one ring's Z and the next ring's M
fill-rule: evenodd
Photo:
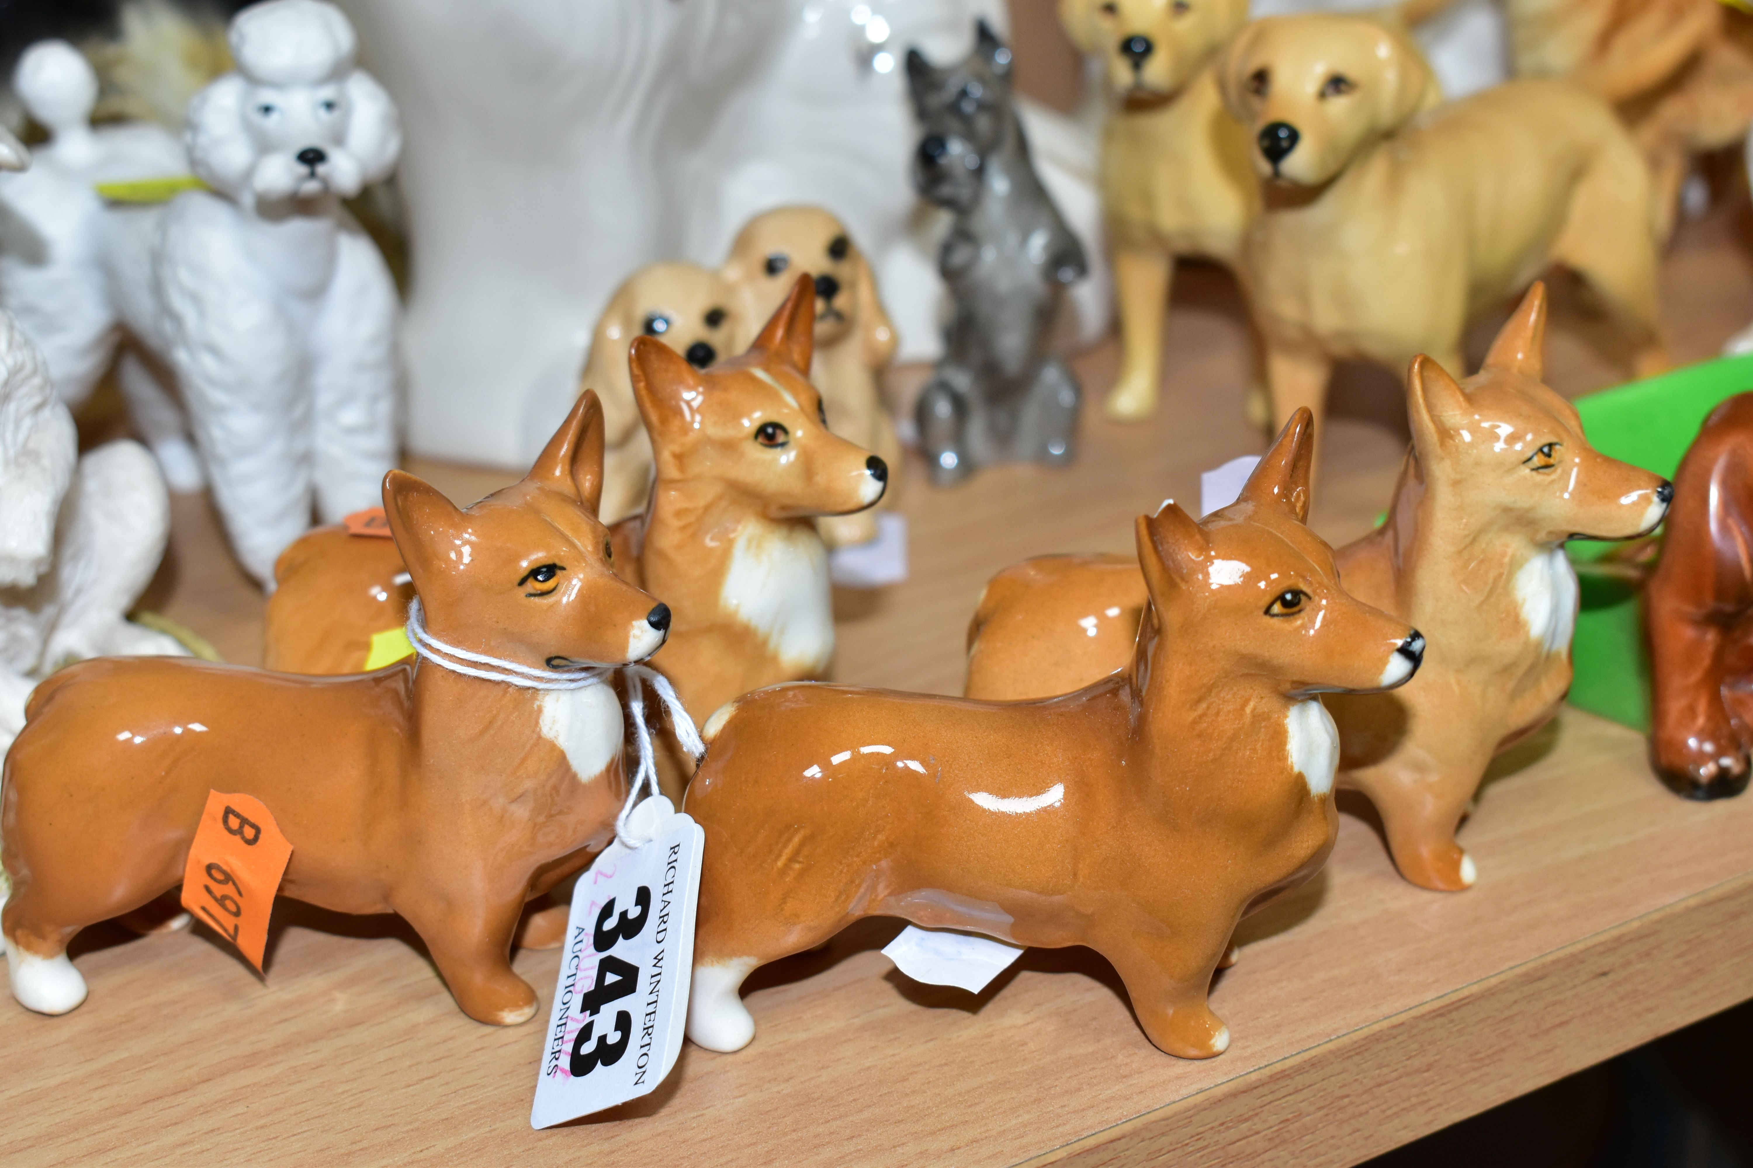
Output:
M1679 473L1644 588L1650 758L1688 799L1748 786L1753 748L1753 394L1716 406Z

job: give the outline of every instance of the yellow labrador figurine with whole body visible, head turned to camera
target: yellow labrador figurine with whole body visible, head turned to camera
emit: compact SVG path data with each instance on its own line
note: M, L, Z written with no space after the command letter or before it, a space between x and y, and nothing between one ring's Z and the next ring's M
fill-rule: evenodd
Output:
M1357 16L1257 21L1218 70L1255 140L1264 210L1245 278L1278 417L1320 410L1334 361L1462 369L1467 319L1571 266L1667 364L1650 173L1618 117L1564 82L1437 107L1411 42Z

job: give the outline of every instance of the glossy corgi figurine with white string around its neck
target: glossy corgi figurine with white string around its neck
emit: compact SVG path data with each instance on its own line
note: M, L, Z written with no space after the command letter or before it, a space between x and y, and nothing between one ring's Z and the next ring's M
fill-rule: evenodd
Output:
M470 1017L529 1019L536 995L508 963L524 904L608 844L628 793L614 686L580 667L643 660L670 627L608 567L601 461L586 394L522 482L468 510L386 476L436 646L417 664L296 678L102 658L39 685L0 814L12 996L44 1014L77 1007L68 940L175 888L219 790L277 820L293 846L287 897L401 914ZM458 658L500 669L489 679Z

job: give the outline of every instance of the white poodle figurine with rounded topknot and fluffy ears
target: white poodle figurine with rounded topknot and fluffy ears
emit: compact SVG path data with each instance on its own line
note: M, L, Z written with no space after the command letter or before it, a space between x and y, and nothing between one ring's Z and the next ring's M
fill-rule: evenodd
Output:
M231 546L270 583L312 503L324 522L373 506L394 466L396 291L340 200L391 172L401 131L335 5L252 5L230 44L237 72L196 95L186 130L210 191L103 212L102 301L81 306L81 333L110 345L123 324L145 350L119 373L161 455L182 426L174 376ZM19 74L26 109L68 126L77 70ZM179 487L196 475L167 469Z

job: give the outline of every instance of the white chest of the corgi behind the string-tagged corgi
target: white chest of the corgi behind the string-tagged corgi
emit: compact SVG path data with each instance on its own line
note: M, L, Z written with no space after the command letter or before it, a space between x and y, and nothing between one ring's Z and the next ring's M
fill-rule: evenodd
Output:
M812 527L743 527L719 601L759 632L787 669L820 671L834 655L827 548Z

